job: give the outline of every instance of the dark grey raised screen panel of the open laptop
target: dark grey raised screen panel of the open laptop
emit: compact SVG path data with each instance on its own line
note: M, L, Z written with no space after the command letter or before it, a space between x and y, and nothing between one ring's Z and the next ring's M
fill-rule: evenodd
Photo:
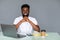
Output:
M1 29L4 36L18 38L15 25L1 24Z

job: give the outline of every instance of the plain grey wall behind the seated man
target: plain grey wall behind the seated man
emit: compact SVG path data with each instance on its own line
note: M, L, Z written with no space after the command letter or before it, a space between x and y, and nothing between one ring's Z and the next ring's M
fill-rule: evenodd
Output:
M24 3L31 6L30 16L37 19L41 29L60 33L60 0L0 0L0 24L13 24Z

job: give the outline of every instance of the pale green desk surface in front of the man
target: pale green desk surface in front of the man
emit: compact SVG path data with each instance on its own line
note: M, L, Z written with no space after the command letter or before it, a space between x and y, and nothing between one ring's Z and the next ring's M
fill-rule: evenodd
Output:
M34 36L27 36L24 38L11 38L11 37L6 37L3 36L2 33L0 32L0 40L60 40L60 35L58 33L53 33L53 32L48 32L48 36L46 38L41 38L40 37L34 37Z

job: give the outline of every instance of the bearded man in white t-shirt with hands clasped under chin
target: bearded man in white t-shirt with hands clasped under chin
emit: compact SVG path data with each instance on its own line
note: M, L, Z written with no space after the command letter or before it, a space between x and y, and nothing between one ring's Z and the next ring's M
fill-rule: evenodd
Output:
M17 29L17 34L32 34L34 30L40 32L40 28L36 19L29 16L30 6L28 4L23 4L21 6L21 12L22 16L17 17L14 21Z

